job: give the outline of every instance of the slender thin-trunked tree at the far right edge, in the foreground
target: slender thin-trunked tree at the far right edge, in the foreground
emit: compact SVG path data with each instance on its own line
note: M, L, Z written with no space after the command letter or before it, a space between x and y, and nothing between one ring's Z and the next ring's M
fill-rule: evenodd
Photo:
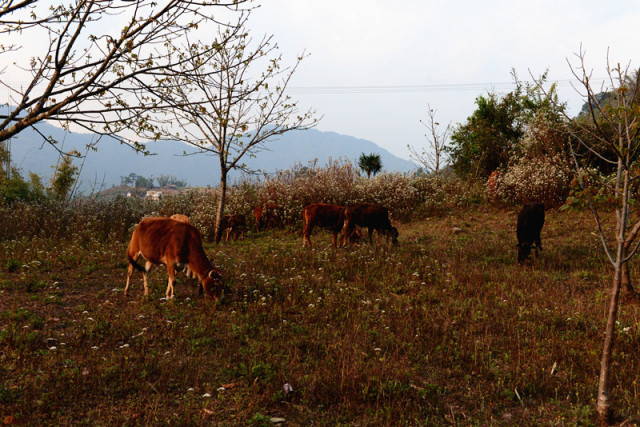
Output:
M640 232L640 221L631 221L632 209L635 208L633 193L637 191L640 180L636 166L640 150L640 93L637 82L630 84L634 77L637 80L640 73L636 72L634 76L628 66L621 67L618 64L612 67L607 60L608 88L596 90L592 84L591 72L585 68L585 52L580 49L576 56L578 65L569 65L580 82L588 117L576 119L566 116L570 138L574 142L570 144L572 158L579 172L581 187L579 195L568 199L568 205L586 203L589 206L598 227L602 246L613 267L596 401L601 422L608 423L613 419L610 376L620 290L626 269L627 290L633 293L627 263L636 254L640 244L633 243ZM603 97L604 92L608 96ZM616 179L610 187L583 178L585 173L578 148L614 167ZM605 204L609 208L605 212L610 212L610 207L615 206L613 236L607 233L607 227L604 225L606 216L599 210L594 194L597 194L600 200L607 199Z

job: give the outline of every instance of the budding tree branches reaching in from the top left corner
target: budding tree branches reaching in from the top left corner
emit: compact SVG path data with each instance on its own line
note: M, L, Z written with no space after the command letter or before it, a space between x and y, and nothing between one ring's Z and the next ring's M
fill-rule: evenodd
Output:
M163 76L192 63L188 52L160 49L215 23L214 10L244 1L0 0L0 87L15 107L0 115L0 141L42 120L121 137L127 129L152 131L150 112L163 105L151 94ZM39 53L29 58L27 46ZM8 71L25 81L11 80ZM133 138L124 142L144 149Z

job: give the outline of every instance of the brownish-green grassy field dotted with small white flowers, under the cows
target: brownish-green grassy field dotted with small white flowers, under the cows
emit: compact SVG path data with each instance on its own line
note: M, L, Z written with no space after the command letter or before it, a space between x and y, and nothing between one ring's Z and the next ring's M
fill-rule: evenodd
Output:
M123 297L127 242L1 243L0 416L31 425L595 424L611 269L586 214L547 212L515 262L514 210L207 245L226 298L166 269ZM462 231L454 233L452 227ZM632 266L634 278L640 277ZM640 422L640 309L623 302L613 404ZM555 368L554 368L555 367ZM285 386L285 384L287 386Z

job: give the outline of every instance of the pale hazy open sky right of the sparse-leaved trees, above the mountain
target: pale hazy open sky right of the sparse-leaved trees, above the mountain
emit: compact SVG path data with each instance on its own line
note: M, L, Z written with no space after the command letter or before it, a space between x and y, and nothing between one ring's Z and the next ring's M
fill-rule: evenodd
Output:
M594 77L612 63L638 66L640 2L591 0L269 0L250 18L300 65L291 94L324 118L318 129L369 139L408 158L424 146L427 104L461 123L478 95L512 89L549 69L577 112L567 60L580 45ZM505 84L506 83L506 84Z

